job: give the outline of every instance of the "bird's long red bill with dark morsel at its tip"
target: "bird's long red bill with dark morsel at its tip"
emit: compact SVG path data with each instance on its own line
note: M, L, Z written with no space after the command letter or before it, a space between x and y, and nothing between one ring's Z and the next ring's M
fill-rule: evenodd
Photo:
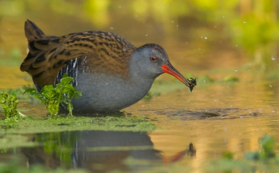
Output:
M179 71L177 71L174 66L172 66L171 63L167 62L164 65L161 66L163 69L164 73L168 73L171 74L172 76L176 77L176 79L179 79L179 81L181 81L182 83L184 83L186 86L188 86L190 88L190 92L192 92L193 88L195 87L195 85L197 85L195 82L193 81L193 83L191 82L191 80L187 80L185 79L182 74L179 73ZM194 79L193 79L194 80ZM188 83L188 81L190 81L190 84Z

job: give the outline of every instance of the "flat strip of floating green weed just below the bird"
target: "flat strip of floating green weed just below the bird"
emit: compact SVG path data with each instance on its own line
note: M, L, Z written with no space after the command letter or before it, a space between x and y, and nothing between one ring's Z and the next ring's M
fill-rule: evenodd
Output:
M59 131L153 131L156 126L144 117L60 117L49 120L0 122L0 135Z

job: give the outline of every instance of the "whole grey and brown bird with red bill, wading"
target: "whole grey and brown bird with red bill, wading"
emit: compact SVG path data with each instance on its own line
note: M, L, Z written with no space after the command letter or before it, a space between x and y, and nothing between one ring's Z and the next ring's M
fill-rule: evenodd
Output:
M136 48L121 36L104 31L49 36L29 20L24 29L29 53L20 69L31 74L38 90L59 83L64 73L73 77L75 88L84 93L73 99L75 111L126 108L140 101L163 72L176 76L190 90L195 85L170 65L158 44Z

